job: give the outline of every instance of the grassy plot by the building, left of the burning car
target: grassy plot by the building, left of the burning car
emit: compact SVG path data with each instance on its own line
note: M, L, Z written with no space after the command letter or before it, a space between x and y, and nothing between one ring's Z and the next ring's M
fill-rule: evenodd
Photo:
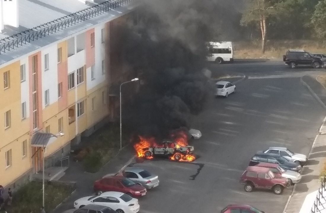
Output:
M92 141L92 143L87 147L87 154L83 159L83 166L87 172L96 173L120 149L119 126L118 124L104 126L86 140ZM127 141L127 138L123 138L122 146L125 146Z

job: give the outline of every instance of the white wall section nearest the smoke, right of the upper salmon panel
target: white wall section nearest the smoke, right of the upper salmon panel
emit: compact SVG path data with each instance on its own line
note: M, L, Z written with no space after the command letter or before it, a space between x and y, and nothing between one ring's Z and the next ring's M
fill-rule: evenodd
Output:
M101 40L101 30L105 24L100 24L95 27L95 79L91 79L91 68L87 69L87 90L96 87L96 85L105 81L105 74L102 75L102 60L105 59L105 43ZM108 32L105 32L108 33Z

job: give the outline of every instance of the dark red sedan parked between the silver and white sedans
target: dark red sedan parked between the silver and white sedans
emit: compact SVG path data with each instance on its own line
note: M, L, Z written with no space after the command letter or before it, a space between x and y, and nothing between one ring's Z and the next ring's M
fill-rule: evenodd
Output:
M132 197L141 197L147 193L146 188L123 176L107 176L101 180L96 180L94 191L96 194L108 191L122 192Z

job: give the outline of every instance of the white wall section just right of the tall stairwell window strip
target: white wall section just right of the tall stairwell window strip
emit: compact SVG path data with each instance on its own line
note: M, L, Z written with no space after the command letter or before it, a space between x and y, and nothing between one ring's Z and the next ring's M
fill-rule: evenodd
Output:
M44 71L44 55L49 54L49 69ZM44 104L44 92L49 89L50 104L58 101L58 63L57 45L54 44L41 52L41 71L42 71L42 108Z

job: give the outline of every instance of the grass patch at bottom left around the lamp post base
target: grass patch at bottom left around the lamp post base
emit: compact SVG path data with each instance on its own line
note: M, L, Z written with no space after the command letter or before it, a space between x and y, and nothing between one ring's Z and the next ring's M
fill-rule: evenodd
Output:
M72 185L60 183L45 183L45 211L52 211L65 198L67 198L75 188ZM42 206L42 183L29 182L22 186L13 194L12 206L7 206L10 213L40 212Z

